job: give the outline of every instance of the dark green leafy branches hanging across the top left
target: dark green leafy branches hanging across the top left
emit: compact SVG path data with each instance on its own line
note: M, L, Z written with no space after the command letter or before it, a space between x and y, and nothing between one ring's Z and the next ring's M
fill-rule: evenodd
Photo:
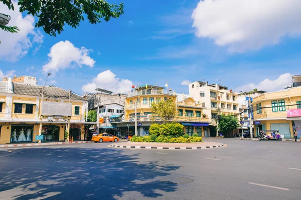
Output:
M12 0L0 0L9 9L15 9ZM118 18L123 14L123 3L119 5L109 4L106 0L18 0L20 12L27 12L38 17L36 27L43 27L47 34L56 36L64 30L64 25L76 28L79 22L84 20L86 14L92 24L100 23L102 19L109 21L111 18ZM19 29L15 26L1 29L9 32L16 32Z

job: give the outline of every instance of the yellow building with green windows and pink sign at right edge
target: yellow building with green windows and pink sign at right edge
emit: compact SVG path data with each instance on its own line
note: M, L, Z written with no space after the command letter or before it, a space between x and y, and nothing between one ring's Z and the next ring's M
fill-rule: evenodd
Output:
M291 137L295 129L301 134L301 75L292 76L287 89L266 92L253 98L254 132L279 130L282 137Z

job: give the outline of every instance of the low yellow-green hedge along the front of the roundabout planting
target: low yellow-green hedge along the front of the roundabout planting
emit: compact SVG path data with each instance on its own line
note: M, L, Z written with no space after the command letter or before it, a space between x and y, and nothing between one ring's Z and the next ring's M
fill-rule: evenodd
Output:
M184 135L185 136L185 135ZM169 136L165 136L165 135L160 135L160 136L156 136L156 135L150 135L150 136L138 136L138 137L131 137L130 141L134 141L134 142L173 142L173 143L189 143L189 142L200 142L202 141L202 137L195 137L195 136L187 136L183 137L171 137Z

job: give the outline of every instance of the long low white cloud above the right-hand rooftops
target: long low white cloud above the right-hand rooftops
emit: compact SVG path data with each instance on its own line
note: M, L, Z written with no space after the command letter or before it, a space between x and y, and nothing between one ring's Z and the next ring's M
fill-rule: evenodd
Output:
M291 84L291 74L283 73L277 79L270 80L268 78L260 81L258 84L249 83L236 88L236 91L250 91L254 88L264 91L277 91L284 89L285 85Z

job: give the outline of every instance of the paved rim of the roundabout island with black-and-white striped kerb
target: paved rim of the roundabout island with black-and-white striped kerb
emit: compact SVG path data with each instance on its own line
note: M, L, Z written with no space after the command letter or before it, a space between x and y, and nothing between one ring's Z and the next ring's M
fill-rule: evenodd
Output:
M120 142L110 144L115 148L148 148L148 149L204 149L226 146L219 142L161 143L161 142Z

